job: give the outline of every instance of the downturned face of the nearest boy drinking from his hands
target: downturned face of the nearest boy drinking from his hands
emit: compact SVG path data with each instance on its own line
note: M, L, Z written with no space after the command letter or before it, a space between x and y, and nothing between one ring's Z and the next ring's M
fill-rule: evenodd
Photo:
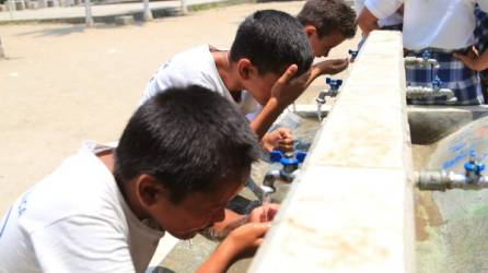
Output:
M242 190L246 179L229 179L213 192L193 192L177 204L161 200L152 217L174 237L193 238L204 228L224 218L229 200Z

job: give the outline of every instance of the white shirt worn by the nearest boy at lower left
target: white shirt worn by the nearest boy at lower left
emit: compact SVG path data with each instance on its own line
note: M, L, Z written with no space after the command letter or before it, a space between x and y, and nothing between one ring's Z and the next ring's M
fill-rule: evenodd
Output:
M0 272L144 272L164 232L141 222L88 142L0 221Z

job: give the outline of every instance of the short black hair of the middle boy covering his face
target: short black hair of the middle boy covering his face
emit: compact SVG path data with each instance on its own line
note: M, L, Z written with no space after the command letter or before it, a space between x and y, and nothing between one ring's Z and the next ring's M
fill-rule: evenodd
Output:
M231 47L231 60L247 58L259 74L282 74L297 64L297 75L309 70L313 52L303 26L288 13L276 10L256 11L239 26Z

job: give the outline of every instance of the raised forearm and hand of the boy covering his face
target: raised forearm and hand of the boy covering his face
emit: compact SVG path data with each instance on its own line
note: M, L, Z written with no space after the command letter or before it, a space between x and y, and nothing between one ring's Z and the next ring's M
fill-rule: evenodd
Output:
M291 103L293 103L306 88L306 82L310 72L305 72L297 79L297 64L291 64L281 78L275 83L271 90L271 96L264 106L263 110L251 122L251 128L256 132L259 140L271 127L272 122Z

